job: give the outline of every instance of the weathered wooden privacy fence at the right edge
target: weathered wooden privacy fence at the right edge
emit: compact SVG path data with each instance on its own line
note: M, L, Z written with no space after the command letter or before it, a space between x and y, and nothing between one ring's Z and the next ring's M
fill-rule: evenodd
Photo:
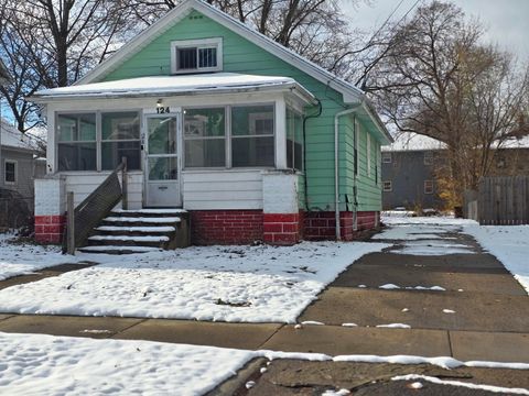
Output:
M472 201L465 206L472 211ZM482 178L475 220L484 226L529 224L529 176Z

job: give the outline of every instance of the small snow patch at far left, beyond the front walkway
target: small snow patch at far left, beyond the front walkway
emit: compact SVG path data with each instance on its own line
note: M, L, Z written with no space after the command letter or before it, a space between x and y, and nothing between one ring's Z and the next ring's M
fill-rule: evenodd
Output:
M0 234L0 280L58 264L79 262L79 257L61 254L58 246L10 243L14 238L12 233Z

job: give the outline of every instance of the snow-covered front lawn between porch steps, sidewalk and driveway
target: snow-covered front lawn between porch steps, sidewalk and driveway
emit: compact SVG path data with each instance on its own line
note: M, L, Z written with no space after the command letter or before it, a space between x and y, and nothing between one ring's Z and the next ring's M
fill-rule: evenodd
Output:
M105 264L0 290L0 311L295 322L348 265L388 246L304 242L283 248L195 246L129 255L126 261L111 257Z

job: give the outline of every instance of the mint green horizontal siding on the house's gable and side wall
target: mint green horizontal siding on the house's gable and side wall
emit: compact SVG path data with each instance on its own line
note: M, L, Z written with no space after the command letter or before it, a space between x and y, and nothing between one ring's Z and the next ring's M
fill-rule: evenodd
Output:
M119 68L108 74L104 80L169 75L172 41L208 37L223 37L224 72L292 77L321 100L322 114L306 122L306 204L309 209L334 210L334 117L336 112L346 108L342 95L217 22L193 11L141 48ZM316 110L315 108L307 109L307 113L315 113ZM366 173L366 132L363 138L364 150L358 151L361 176L357 179L354 175L353 117L342 117L339 132L341 202L345 202L346 196L349 202L354 201L353 194L356 183L358 210L380 210L380 188L374 180L364 176ZM375 142L376 139L373 141ZM302 177L300 177L301 185ZM304 195L302 188L300 188L300 202L304 204L301 195ZM349 209L352 208L349 207ZM345 210L345 204L342 205L341 210Z

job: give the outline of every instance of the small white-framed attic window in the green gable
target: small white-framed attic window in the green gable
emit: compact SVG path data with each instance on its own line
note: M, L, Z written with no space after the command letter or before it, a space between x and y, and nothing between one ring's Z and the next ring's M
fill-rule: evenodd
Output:
M171 43L173 74L220 72L223 38L185 40Z

